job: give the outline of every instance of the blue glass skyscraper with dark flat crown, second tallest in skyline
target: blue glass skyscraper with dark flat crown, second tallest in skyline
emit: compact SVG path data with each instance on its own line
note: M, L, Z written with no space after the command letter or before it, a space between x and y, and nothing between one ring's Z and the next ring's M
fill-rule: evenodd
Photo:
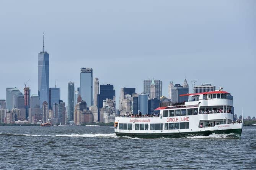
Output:
M93 69L81 68L80 95L82 100L90 107L93 104Z

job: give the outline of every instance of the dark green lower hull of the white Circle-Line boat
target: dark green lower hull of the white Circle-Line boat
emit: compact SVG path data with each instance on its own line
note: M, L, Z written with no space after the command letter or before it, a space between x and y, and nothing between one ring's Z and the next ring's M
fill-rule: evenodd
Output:
M180 132L180 133L122 133L115 132L117 136L129 136L132 138L184 138L188 136L209 136L215 134L234 134L237 137L241 136L242 129L225 129L225 130L211 130L199 132Z

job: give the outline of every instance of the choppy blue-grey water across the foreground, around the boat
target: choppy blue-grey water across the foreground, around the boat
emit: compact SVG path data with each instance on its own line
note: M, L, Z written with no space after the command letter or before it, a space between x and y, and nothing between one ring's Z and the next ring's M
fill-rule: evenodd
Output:
M256 127L179 139L117 137L113 127L0 127L0 169L256 169Z

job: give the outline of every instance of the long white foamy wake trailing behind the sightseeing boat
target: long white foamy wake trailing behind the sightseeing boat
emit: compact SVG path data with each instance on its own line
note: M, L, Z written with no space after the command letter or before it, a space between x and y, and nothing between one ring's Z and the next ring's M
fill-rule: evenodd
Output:
M12 133L0 133L1 136L49 136L49 137L103 137L103 138L118 138L115 133L104 134L56 134L56 135L33 135L33 134L12 134Z

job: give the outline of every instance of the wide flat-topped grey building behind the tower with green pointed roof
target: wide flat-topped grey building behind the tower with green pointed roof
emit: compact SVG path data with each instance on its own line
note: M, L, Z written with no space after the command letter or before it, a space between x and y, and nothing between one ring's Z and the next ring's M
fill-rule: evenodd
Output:
M153 80L155 82L155 88L156 88L156 98L160 99L162 96L163 86L161 80ZM143 92L150 96L150 85L152 83L152 80L144 80L143 81Z

